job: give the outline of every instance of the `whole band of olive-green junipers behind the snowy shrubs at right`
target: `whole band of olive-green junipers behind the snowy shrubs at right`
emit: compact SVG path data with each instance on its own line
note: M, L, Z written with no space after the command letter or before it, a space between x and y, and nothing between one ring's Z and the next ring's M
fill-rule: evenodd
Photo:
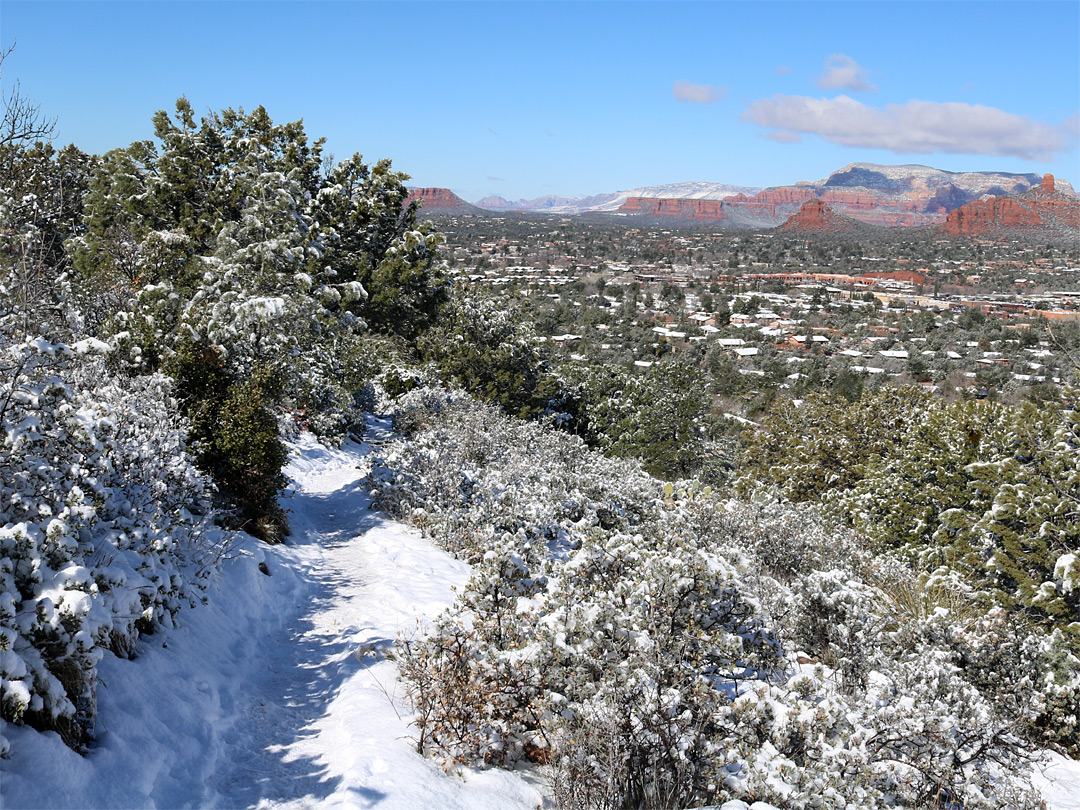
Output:
M811 397L751 436L740 485L820 502L879 550L959 575L984 605L1075 639L1078 423L1069 407L945 403L915 389Z

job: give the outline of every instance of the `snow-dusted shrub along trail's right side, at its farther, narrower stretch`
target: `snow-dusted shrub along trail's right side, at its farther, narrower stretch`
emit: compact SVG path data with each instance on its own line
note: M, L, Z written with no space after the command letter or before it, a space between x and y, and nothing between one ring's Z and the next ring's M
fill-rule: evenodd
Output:
M375 460L377 505L469 562L504 532L565 551L591 531L630 530L659 495L638 464L607 459L576 436L507 417L467 394L417 388L399 400L393 419L415 438Z

